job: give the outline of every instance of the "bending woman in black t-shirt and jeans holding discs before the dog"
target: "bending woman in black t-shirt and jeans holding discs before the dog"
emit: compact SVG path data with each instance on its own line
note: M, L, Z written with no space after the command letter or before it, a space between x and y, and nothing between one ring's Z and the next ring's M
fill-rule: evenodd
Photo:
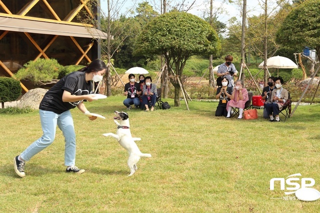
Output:
M62 131L65 141L64 165L66 172L81 174L83 169L75 166L75 132L70 109L77 107L84 114L89 113L83 101L96 100L92 91L92 81L101 81L106 71L103 61L93 60L88 66L71 72L61 78L49 89L39 106L40 122L43 135L34 141L14 160L14 171L19 177L24 177L24 161L29 161L34 155L49 146L55 137L56 126ZM95 120L95 116L89 117Z

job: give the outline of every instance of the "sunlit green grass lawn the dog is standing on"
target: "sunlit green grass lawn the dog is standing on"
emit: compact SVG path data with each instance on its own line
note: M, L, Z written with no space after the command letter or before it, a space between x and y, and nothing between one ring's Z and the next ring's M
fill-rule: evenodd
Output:
M163 100L163 99L162 99ZM314 202L283 200L272 178L300 173L320 191L320 105L299 106L286 122L214 117L216 102L189 103L169 110L128 111L132 137L141 152L137 172L127 177L127 152L112 137L113 111L123 97L85 103L106 120L90 121L73 109L76 166L65 173L64 141L57 129L52 145L26 163L18 178L13 157L42 134L38 111L0 114L0 213L314 213ZM171 106L173 100L167 99ZM301 183L295 181L295 183ZM285 187L294 187L285 185ZM294 195L294 194L293 194ZM289 199L293 198L289 195ZM281 199L272 199L281 198Z

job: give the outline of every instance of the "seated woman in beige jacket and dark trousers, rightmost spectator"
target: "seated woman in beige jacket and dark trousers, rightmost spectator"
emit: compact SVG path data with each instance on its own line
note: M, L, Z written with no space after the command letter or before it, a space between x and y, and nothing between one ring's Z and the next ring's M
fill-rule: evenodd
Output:
M275 89L271 94L271 103L265 105L266 111L270 117L270 122L280 121L279 111L282 109L283 104L288 100L289 93L286 89L282 87L283 79L279 76L275 78ZM273 112L273 116L272 116ZM275 118L274 118L275 117Z

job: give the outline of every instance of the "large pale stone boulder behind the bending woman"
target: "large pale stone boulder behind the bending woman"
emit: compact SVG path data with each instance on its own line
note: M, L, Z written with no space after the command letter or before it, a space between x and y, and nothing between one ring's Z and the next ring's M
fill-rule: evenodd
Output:
M29 90L21 97L20 102L17 104L17 107L30 107L31 109L39 109L40 102L46 91L48 90L42 88Z

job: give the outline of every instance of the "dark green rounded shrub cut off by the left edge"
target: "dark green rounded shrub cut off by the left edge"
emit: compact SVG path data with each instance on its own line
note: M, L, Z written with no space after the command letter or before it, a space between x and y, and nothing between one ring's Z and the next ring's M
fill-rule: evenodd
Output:
M21 85L18 80L0 77L0 102L15 101L21 95Z

